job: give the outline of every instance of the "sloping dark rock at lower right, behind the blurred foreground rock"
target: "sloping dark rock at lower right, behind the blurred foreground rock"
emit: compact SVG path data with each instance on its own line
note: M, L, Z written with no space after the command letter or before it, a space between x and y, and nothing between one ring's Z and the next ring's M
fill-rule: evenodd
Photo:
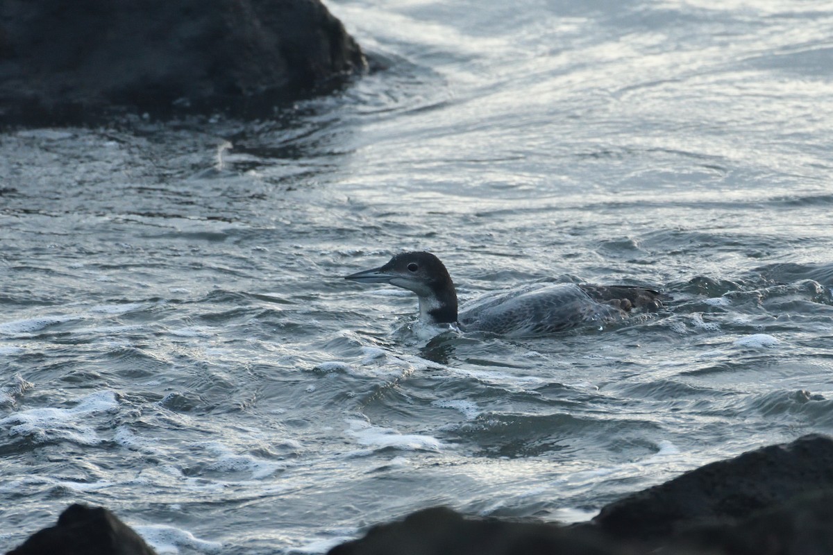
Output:
M826 488L833 488L833 439L806 435L634 493L602 508L592 523L615 538L653 542L698 523L739 523Z

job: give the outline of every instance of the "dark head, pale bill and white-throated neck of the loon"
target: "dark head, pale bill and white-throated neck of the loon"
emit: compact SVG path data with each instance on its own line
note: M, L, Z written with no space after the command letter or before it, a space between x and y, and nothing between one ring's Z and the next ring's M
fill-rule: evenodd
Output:
M457 294L446 266L430 252L403 252L386 265L347 275L345 280L389 283L419 297L420 320L428 324L457 321Z

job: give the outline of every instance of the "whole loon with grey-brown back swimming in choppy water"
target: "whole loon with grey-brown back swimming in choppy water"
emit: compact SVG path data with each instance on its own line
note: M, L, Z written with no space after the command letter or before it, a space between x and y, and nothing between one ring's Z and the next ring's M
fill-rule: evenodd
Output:
M360 283L389 283L419 298L420 321L506 336L544 335L579 325L615 322L634 308L658 310L660 294L632 285L538 284L490 294L457 313L451 275L429 252L403 252L386 265L347 275Z

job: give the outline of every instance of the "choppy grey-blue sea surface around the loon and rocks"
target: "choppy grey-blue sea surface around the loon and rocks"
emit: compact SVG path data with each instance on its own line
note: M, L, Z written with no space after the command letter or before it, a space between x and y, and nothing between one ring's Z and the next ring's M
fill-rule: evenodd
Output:
M375 67L332 97L0 134L0 550L74 502L159 553L575 521L833 433L830 2L328 6ZM416 249L670 300L429 340L341 279Z

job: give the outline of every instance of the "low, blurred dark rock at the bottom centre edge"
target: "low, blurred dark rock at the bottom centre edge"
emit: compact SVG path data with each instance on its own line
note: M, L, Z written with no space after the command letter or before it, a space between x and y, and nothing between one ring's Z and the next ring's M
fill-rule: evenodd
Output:
M556 524L462 518L448 508L429 508L404 521L371 528L328 555L616 555L631 553L596 533Z

